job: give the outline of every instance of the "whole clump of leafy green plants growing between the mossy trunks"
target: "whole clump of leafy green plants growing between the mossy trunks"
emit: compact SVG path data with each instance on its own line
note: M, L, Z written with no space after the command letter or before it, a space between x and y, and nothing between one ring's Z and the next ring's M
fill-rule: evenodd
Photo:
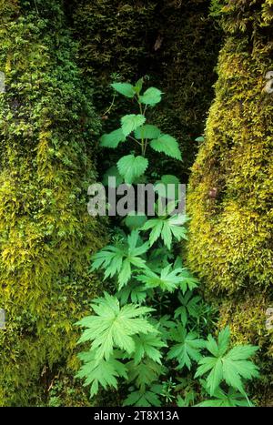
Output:
M142 94L143 83L111 85L136 100L139 112L122 116L121 127L100 139L108 148L127 144L132 149L135 144L106 172L129 185L157 171L148 170L148 153L181 160L177 140L147 122L148 110L160 102L162 92L150 87ZM167 175L161 181L178 179ZM171 202L174 206L178 199ZM100 389L117 389L118 383L124 393L126 382L124 406L251 405L245 381L258 377L249 360L258 348L230 349L228 328L217 339L207 336L214 323L212 309L197 295L197 279L177 256L179 243L187 238L186 222L185 215L169 215L167 209L154 218L129 214L112 244L93 256L92 271L103 271L113 295L105 292L94 299L92 314L77 322L83 328L79 343L90 343L79 354L83 364L77 377L91 386L91 398Z

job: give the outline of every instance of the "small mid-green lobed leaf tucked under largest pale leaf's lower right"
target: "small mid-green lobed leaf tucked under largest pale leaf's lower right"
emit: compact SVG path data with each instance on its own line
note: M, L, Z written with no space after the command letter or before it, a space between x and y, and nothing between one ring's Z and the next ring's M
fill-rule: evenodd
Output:
M148 357L161 364L162 354L159 349L162 347L167 347L167 345L160 339L160 334L157 332L155 334L143 334L139 333L134 337L135 341L135 352L134 352L134 361L139 363L144 357Z

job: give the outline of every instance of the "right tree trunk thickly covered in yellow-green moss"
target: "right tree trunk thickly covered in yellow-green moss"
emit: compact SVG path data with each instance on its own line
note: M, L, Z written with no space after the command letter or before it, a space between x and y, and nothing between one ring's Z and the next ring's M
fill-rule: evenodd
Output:
M264 398L270 399L272 330L272 1L214 2L226 40L216 98L187 197L188 264L204 282L236 341L259 344ZM261 390L257 391L261 396Z

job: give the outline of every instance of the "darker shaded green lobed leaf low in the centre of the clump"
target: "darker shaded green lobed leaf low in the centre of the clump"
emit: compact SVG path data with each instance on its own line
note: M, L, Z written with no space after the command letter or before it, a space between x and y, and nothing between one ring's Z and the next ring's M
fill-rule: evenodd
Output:
M147 387L158 380L158 377L166 371L166 368L152 359L143 359L136 365L134 360L126 363L129 382L134 381L136 386L145 391Z

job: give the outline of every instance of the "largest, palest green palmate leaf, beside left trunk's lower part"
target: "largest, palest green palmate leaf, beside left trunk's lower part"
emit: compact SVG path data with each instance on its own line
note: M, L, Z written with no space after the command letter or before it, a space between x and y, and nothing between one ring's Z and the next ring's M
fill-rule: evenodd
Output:
M86 328L78 343L92 341L97 362L110 359L114 347L131 354L136 349L133 335L157 333L147 319L140 318L153 309L133 304L120 307L118 299L106 292L104 298L95 299L91 307L96 315L87 316L76 325Z

